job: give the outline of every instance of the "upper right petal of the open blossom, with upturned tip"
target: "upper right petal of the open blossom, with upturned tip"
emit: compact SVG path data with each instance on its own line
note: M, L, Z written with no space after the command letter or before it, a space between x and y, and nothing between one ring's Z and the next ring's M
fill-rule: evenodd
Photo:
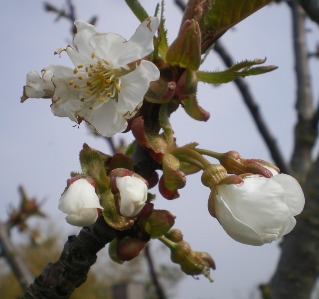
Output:
M92 35L90 45L98 57L105 59L113 68L126 67L154 51L153 37L160 20L150 17L143 21L129 41L115 33Z

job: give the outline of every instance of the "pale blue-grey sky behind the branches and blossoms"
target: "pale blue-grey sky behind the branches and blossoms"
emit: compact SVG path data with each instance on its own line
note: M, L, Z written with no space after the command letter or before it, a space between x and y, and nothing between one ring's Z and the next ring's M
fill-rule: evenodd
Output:
M53 231L76 233L78 230L70 227L64 220L65 215L58 211L57 201L70 172L80 171L78 153L84 142L106 153L110 149L104 140L90 135L85 125L77 129L69 119L55 117L50 111L50 100L29 99L19 103L28 71L40 72L50 64L72 66L66 54L61 58L53 55L56 48L66 47L71 42L70 23L66 20L54 22L55 15L45 13L42 2L1 1L0 220L6 219L9 205L17 205L17 186L23 184L28 195L47 199L43 210L54 223ZM62 0L51 2L59 7L64 4ZM139 25L122 0L74 2L79 18L87 21L92 15L99 16L96 27L101 32L115 32L129 39ZM153 14L157 1L141 2ZM172 0L166 0L165 15L171 42L181 18L180 9ZM319 40L318 27L311 22L307 27L311 29L308 39L309 48L313 50ZM292 152L296 120L291 35L287 5L272 4L242 21L221 39L237 61L266 56L266 64L279 66L271 73L245 80L287 159ZM319 79L318 66L318 61L312 61L314 82ZM222 70L224 66L215 54L211 54L201 69ZM318 85L313 88L313 93L317 98ZM171 123L178 145L196 141L201 148L218 152L236 150L244 158L271 161L234 84L216 88L200 84L198 99L211 117L206 123L197 122L181 108L172 114ZM132 140L130 132L118 136L128 142ZM157 188L150 192L158 194ZM252 247L233 241L209 215L208 195L209 189L201 185L200 174L197 174L187 178L179 199L166 201L158 195L155 202L156 209L166 209L177 216L174 227L182 230L184 240L192 249L208 252L217 265L217 270L211 272L214 283L210 284L204 277L196 281L185 276L176 288L174 299L252 298L257 286L271 277L279 258L280 242ZM101 254L107 255L107 251Z

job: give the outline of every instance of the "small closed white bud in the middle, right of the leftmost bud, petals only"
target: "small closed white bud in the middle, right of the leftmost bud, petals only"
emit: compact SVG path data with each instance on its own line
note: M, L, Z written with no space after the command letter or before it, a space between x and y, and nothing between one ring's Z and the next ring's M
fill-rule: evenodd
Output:
M119 200L122 216L134 217L141 212L148 198L148 186L137 177L124 176L116 178L120 191Z

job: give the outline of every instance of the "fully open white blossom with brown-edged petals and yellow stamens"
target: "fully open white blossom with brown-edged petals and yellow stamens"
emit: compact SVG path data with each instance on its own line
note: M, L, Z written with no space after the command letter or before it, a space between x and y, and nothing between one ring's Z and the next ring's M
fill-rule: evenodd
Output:
M115 33L97 32L95 26L75 21L77 33L65 51L75 68L50 65L27 75L21 101L27 98L52 97L55 116L69 117L87 124L99 134L110 137L127 128L143 104L151 81L160 71L150 61L141 60L154 50L153 37L159 26L157 17L143 21L127 41Z

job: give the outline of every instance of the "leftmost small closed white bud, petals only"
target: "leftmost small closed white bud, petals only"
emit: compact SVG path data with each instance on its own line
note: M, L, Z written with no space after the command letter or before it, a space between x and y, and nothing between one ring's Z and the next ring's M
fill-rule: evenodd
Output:
M90 226L98 219L97 209L103 209L95 188L86 180L78 179L62 194L58 209L68 214L66 222L74 226Z

